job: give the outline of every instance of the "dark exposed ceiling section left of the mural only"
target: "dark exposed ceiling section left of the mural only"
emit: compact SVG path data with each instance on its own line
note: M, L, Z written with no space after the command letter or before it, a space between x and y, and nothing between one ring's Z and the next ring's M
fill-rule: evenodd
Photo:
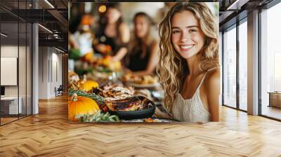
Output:
M43 26L39 26L39 46L55 46L67 52L67 4L67 0L0 0L1 32L8 35L6 42L21 42L31 33L25 30L25 23L36 22Z

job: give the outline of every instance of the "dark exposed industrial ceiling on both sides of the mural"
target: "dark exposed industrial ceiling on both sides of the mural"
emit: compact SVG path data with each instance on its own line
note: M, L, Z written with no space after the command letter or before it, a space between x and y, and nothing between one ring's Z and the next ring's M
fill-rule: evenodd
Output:
M90 0L70 0L72 2ZM92 0L91 0L92 1ZM112 0L117 1L117 0ZM142 0L145 1L145 0ZM150 1L150 0L147 0ZM164 1L164 0L160 0ZM197 1L197 0L190 0ZM247 13L256 8L261 8L274 0L201 0L219 2L219 26L223 31L234 25L237 20L247 17ZM48 4L49 3L49 4ZM18 27L13 26L19 22L38 22L51 30L50 33L43 27L39 27L40 46L58 46L67 51L67 0L1 0L0 18L4 29L11 38L18 39ZM51 4L51 5L50 5ZM52 7L53 6L53 7ZM37 8L37 9L34 9ZM5 23L5 24L3 24ZM16 25L17 26L17 25ZM25 30L19 25L20 38L24 36ZM56 35L54 35L56 34ZM63 46L65 45L65 46Z

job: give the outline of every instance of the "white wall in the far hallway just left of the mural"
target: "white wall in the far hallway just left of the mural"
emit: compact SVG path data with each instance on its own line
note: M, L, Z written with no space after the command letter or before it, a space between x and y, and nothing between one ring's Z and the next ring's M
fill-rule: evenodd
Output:
M61 84L62 55L55 48L39 47L39 99L55 97Z

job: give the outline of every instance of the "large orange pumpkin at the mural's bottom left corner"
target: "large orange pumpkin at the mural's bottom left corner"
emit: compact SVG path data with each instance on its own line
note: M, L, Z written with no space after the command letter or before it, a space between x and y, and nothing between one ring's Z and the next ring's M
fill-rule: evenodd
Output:
M91 100L89 97L80 97L74 93L71 100L68 101L68 119L70 121L78 121L75 118L78 114L96 114L100 111L96 101Z

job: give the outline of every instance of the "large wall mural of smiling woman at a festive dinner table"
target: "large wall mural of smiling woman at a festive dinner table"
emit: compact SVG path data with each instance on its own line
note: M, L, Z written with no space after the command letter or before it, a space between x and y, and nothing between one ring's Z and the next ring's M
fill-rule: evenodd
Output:
M72 3L68 118L218 121L218 2Z

